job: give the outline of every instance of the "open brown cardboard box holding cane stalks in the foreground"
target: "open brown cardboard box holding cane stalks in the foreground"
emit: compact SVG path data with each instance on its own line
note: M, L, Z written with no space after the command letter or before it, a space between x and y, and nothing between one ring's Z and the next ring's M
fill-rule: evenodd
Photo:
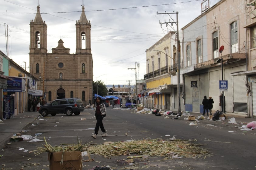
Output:
M63 157L63 159L62 159ZM50 170L82 170L81 151L73 152L49 152ZM62 163L61 163L62 160Z

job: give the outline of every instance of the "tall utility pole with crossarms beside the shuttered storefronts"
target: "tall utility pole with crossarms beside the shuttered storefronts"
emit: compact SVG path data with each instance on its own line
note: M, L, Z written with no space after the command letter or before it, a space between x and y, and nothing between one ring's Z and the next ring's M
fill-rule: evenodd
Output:
M177 55L177 58L178 58L178 63L177 63L177 74L178 74L178 77L177 77L177 80L178 80L178 89L177 89L177 92L178 92L178 112L180 112L181 111L181 109L180 109L180 40L179 40L179 24L178 24L178 12L171 12L171 13L157 13L157 14L176 14L176 22L163 22L163 23L161 23L161 22L159 22L161 25L162 24L166 24L166 25L168 25L169 23L171 23L171 24L173 24L173 23L176 23L176 25L177 25L177 30L176 30L176 39L177 39L177 53L176 53L176 55ZM169 15L170 16L170 15Z

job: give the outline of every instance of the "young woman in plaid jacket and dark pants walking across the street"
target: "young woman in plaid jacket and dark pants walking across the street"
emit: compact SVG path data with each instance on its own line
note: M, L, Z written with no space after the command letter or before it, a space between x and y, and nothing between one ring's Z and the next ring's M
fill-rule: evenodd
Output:
M95 125L94 134L92 135L92 137L96 138L96 136L99 132L99 128L103 132L102 137L104 137L104 136L108 135L106 133L106 130L102 123L103 118L106 116L106 106L104 103L102 103L102 100L100 97L96 98L94 112L95 112L94 114L95 114L95 118L96 118L97 122Z

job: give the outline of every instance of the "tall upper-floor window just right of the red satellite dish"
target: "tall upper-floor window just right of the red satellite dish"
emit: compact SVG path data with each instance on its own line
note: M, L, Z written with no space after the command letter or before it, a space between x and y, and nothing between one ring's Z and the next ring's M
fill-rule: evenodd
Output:
M230 24L230 42L231 42L231 53L238 52L237 21L234 21Z

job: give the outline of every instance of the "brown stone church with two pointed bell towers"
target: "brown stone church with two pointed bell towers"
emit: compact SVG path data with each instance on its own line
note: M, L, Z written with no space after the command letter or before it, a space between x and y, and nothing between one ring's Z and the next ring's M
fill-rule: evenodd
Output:
M29 72L38 78L37 89L43 91L43 98L51 102L57 98L81 98L84 105L92 103L93 59L91 52L91 23L82 6L76 27L76 53L58 41L52 53L47 52L47 25L40 14L30 21Z

